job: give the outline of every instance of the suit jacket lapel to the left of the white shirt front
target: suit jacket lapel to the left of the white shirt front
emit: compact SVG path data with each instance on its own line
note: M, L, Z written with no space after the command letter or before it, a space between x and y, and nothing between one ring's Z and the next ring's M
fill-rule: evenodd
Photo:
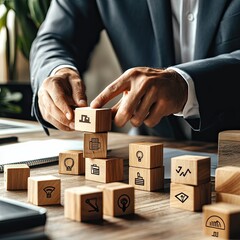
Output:
M170 0L147 0L156 39L159 67L175 64Z

